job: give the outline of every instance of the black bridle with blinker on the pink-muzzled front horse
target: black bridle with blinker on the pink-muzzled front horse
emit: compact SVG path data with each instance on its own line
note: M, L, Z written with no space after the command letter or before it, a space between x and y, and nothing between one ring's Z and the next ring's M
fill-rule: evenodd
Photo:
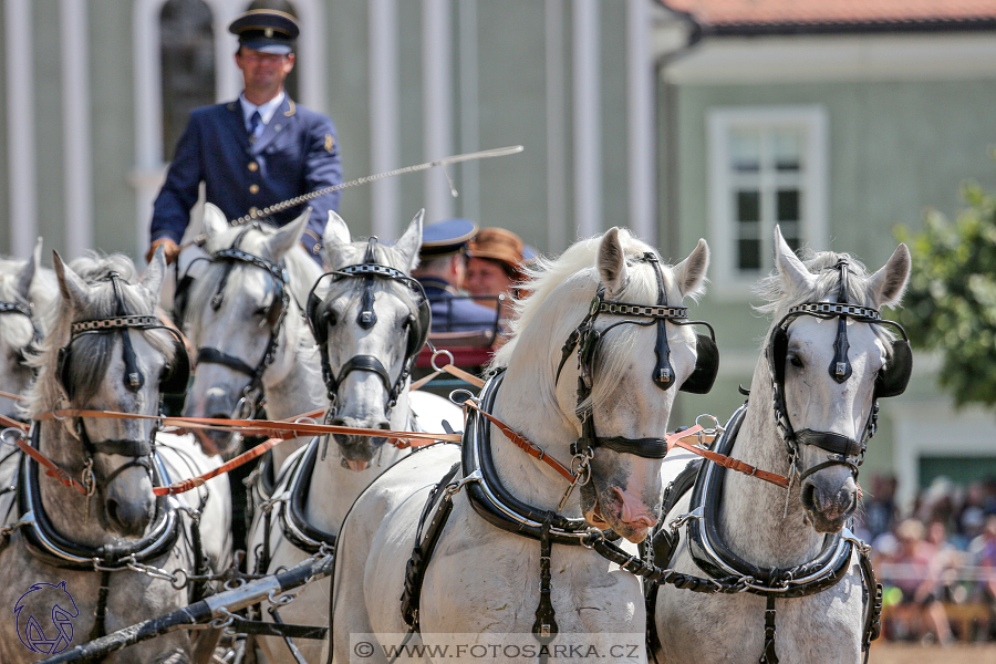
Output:
M676 325L705 325L709 330L709 334L698 334L696 341L696 359L695 369L682 383L679 390L682 392L691 392L693 394L707 394L716 381L716 374L719 371L719 350L716 346L716 333L713 326L705 321L688 320L687 307L668 307L667 293L664 289L664 277L661 274L661 267L657 256L652 252L644 253L640 259L641 262L650 263L657 279L657 304L631 304L626 302L618 302L605 299L605 287L599 284L599 289L594 299L591 301L591 308L584 320L574 329L563 344L561 352L560 365L557 367L557 380L560 380L560 373L563 370L568 357L578 349L578 365L581 371L578 377L578 417L581 419L582 433L581 438L571 445L571 453L574 455L584 454L589 448L594 450L596 447L608 447L618 453L627 453L644 458L664 458L667 454L667 442L664 438L625 438L622 436L598 436L595 434L594 414L591 407L581 409L592 392L594 377L594 361L599 343L609 330L618 325L657 325L657 342L654 347L656 363L654 365L651 378L654 385L661 390L670 390L675 382L674 369L671 364L671 347L667 343L667 325L671 321ZM616 321L602 330L595 330L595 321L600 315L625 317L624 320ZM633 318L649 319L646 322L630 320Z

